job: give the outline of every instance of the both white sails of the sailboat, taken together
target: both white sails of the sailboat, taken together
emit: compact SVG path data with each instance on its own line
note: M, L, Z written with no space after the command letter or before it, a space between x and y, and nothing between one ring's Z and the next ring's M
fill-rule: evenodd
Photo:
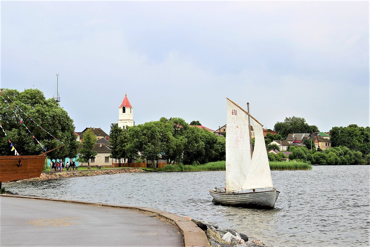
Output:
M251 158L248 114L229 99L226 104L226 193L272 188L262 125L250 119L255 133L255 147Z

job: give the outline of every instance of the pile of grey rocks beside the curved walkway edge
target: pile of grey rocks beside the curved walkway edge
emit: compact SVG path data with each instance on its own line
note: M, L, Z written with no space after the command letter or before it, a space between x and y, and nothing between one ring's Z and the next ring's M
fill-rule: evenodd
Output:
M259 240L248 241L248 236L234 229L219 229L217 223L191 219L208 238L211 247L268 247Z

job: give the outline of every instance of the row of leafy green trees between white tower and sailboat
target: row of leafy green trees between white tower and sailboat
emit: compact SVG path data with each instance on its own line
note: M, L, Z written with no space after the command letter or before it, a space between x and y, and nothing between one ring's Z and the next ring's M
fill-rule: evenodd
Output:
M185 165L225 160L225 137L189 126L182 118L162 117L159 121L128 127L125 138L122 137L124 131L119 129L115 124L111 125L113 158L120 157L121 150L125 150L130 158L140 153L142 158L154 164L160 158L167 159L168 163L182 162Z

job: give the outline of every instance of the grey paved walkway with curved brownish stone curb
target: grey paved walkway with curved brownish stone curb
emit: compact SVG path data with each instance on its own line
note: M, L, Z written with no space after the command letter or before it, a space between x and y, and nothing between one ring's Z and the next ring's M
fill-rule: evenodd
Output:
M202 230L198 227L194 228L192 221L186 222L185 218L164 211L38 197L34 198L42 200L17 197L20 196L0 196L1 247L176 247L184 246L184 242L185 246L209 246L206 238L204 240L204 232L201 233ZM171 214L171 217L164 216L165 214ZM166 219L169 222L180 222L171 224L166 222Z

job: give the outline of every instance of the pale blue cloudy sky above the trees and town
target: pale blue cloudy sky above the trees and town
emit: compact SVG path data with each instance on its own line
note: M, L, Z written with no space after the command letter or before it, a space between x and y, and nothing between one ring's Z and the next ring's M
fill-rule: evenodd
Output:
M369 3L1 1L1 84L56 93L76 131L162 116L226 124L226 97L265 128L369 126Z

